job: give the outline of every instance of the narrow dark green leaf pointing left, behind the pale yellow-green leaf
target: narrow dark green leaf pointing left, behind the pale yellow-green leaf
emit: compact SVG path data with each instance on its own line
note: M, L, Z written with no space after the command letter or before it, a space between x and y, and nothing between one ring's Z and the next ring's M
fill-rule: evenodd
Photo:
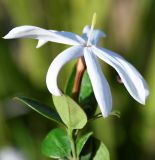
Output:
M26 104L26 106L28 106L31 109L33 109L34 111L38 112L42 116L44 116L52 121L55 121L61 125L64 125L63 122L61 121L60 116L52 107L48 107L45 104L41 104L40 102L38 102L36 100L26 98L26 97L15 97L14 99Z

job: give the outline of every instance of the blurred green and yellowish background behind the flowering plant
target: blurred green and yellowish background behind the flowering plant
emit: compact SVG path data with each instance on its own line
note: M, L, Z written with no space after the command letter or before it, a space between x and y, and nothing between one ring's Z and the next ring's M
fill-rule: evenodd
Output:
M149 84L146 106L138 104L116 80L117 73L101 62L113 95L113 109L121 118L100 119L89 129L107 145L112 160L155 159L155 1L154 0L0 0L0 37L20 25L81 34L97 13L96 28L107 38L101 45L120 53ZM66 47L36 40L0 38L0 154L8 147L25 160L46 160L40 151L44 136L55 127L37 113L12 100L16 95L52 103L45 84L53 58ZM74 62L59 76L61 88ZM3 159L2 159L3 160ZM20 159L17 159L20 160Z

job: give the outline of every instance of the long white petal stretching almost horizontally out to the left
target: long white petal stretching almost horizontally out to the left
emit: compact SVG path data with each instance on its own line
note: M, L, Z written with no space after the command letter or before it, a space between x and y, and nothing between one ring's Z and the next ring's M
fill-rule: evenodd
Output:
M33 38L38 40L51 41L69 45L79 45L85 42L82 37L71 32L46 30L35 26L16 27L12 29L3 38L4 39Z

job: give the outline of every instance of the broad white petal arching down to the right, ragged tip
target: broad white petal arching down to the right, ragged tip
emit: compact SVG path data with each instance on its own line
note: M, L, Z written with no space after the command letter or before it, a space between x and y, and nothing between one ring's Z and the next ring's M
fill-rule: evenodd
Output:
M105 48L93 46L92 50L99 58L115 68L130 95L139 103L145 104L149 90L146 81L136 68L120 55Z

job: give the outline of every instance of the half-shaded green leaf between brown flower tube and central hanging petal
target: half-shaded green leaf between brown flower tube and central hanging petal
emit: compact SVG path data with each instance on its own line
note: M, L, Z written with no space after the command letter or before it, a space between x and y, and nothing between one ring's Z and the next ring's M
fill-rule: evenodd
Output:
M79 104L87 113L88 118L91 118L96 112L97 102L87 71L84 72L81 82Z

